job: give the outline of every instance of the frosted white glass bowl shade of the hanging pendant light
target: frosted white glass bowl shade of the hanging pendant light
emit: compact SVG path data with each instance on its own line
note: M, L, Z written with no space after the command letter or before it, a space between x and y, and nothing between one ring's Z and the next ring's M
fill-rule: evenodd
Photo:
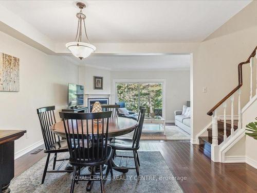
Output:
M84 42L69 42L66 44L66 47L75 57L80 58L81 60L88 57L96 50L94 45Z

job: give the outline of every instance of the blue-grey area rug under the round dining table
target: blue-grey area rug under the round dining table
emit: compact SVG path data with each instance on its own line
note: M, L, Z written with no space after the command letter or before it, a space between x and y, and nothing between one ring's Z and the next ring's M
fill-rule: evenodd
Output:
M130 152L118 152L118 155L122 154L127 155L130 154ZM138 152L138 154L141 164L140 178L137 178L136 170L129 170L125 174L114 170L114 179L108 179L105 184L106 193L182 192L160 152ZM59 155L58 159L67 156L67 153L62 153ZM71 185L70 173L47 173L45 183L41 184L45 160L46 156L42 160L31 166L28 170L24 171L20 176L13 179L10 185L11 192L69 192ZM119 164L119 161L120 158L117 157L117 160L115 160L115 162ZM124 162L126 162L126 159L124 159ZM130 165L134 167L133 159L129 160L128 166ZM51 167L52 164L49 165L49 168ZM88 169L84 168L81 172L88 173ZM109 178L111 178L110 175ZM87 182L79 182L79 184L76 184L75 192L86 192L86 184ZM95 182L93 189L91 189L90 192L101 192L100 182Z

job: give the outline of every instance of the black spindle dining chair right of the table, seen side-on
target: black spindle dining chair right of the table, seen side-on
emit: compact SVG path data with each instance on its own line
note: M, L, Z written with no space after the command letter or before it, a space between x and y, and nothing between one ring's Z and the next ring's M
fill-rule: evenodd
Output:
M133 138L113 138L110 146L113 149L112 152L112 157L113 159L115 157L121 157L120 160L120 164L119 166L115 166L113 167L113 169L117 168L117 169L136 169L137 171L137 176L139 176L139 166L140 166L140 162L139 162L139 156L138 156L138 152L137 150L140 147L140 137L142 134L142 129L143 129L143 121L144 121L144 115L145 115L145 111L146 109L141 107L140 111L139 111L139 115L138 115L138 125L136 127L136 129L134 130L134 135ZM123 150L123 151L133 151L133 156L120 156L115 154L116 150ZM126 165L122 166L122 160L123 158L126 158ZM128 165L128 159L129 158L134 158L134 162L135 162L135 168L133 167L127 167Z

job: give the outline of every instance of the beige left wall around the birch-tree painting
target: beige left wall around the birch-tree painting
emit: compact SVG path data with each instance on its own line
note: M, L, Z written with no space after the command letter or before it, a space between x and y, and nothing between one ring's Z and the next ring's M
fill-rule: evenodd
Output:
M43 139L36 108L67 106L68 83L78 83L78 66L0 32L0 52L20 58L20 92L0 92L0 128L25 129L15 152ZM57 117L59 115L57 114Z

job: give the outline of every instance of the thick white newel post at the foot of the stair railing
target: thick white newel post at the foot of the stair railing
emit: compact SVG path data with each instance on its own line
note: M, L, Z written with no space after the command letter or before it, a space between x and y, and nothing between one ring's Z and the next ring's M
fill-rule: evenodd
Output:
M213 112L213 117L212 117L211 160L213 162L219 162L218 116L217 116L217 110L215 110Z

